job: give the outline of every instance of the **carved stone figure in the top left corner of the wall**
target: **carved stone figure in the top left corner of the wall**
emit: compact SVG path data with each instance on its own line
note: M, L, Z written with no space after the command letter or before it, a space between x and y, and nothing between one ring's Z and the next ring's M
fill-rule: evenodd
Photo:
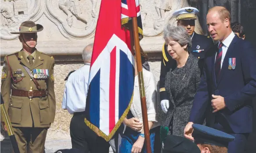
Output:
M10 1L11 2L11 1ZM7 3L1 3L1 26L10 26L13 23L17 23L17 19L14 17L13 8Z

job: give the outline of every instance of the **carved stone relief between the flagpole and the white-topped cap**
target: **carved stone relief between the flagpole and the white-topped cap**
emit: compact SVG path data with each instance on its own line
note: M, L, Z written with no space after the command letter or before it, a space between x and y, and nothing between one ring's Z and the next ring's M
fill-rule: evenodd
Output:
M176 26L177 21L172 15L173 12L189 6L187 0L141 0L140 2L143 6L141 15L144 16L146 14L146 17L143 17L143 33L145 37L161 35L164 25L168 23ZM198 34L203 34L198 20L196 20L195 24L195 31Z

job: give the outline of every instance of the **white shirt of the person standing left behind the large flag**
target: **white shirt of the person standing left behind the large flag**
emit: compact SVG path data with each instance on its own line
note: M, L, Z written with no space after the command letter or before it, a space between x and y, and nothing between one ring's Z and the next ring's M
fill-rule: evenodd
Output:
M85 111L89 72L90 64L85 63L70 74L65 84L62 109L67 109L70 114Z

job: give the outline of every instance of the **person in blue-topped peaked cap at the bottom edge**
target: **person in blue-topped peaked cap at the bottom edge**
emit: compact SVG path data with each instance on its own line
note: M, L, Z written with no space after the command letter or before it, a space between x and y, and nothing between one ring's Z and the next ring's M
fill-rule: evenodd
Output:
M192 137L201 153L227 153L228 143L234 140L225 132L199 124L193 124Z

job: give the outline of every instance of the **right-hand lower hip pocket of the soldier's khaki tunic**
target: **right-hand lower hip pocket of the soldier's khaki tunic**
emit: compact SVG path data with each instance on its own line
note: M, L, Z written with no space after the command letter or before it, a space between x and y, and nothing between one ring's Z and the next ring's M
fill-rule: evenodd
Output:
M40 108L40 123L41 125L50 124L50 108L47 97L38 100Z

